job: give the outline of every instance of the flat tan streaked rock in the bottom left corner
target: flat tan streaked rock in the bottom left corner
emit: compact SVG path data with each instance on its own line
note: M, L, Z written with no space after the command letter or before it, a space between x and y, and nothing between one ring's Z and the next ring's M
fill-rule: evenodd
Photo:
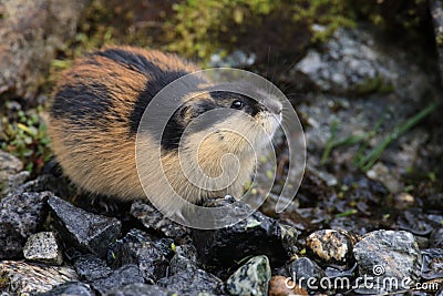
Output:
M0 262L0 278L7 290L14 295L30 295L51 290L66 282L78 280L75 272L68 266L44 266L24 262Z

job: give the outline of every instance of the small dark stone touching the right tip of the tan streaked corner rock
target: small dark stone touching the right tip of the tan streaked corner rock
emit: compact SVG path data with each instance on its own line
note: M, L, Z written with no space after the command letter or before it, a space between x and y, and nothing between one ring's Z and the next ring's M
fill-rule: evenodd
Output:
M112 269L106 265L106 262L92 254L78 257L74 262L74 268L80 279L86 283L107 277L112 274Z

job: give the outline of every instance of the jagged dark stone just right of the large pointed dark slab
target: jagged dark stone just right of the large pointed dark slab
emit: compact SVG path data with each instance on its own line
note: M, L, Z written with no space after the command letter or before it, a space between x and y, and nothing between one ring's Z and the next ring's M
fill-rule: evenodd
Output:
M113 268L136 264L146 283L154 283L166 275L173 256L173 239L153 241L148 234L131 229L125 237L110 246L107 262Z

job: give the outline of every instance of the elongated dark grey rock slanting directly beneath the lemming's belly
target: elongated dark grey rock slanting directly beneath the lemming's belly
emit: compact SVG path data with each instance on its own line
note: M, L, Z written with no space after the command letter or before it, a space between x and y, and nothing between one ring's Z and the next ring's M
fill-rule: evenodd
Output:
M189 231L186 227L164 217L163 214L152 205L135 202L131 206L131 214L146 228L163 233L165 236L172 237L175 241L188 237Z

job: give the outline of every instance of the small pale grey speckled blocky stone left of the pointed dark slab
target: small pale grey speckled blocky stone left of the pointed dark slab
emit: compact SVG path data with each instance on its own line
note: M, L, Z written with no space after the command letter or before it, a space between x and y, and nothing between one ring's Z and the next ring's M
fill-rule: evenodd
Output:
M23 248L24 258L42 263L61 265L63 255L55 234L42 232L32 234Z

